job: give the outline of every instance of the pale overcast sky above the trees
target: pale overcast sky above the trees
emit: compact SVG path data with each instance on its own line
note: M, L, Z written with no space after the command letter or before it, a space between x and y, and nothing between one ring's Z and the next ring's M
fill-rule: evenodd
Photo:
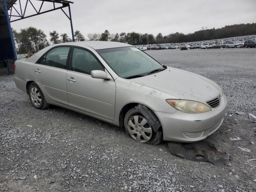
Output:
M188 34L200 30L202 26L220 28L225 25L256 22L256 0L71 0L74 30L88 33L161 32L167 35L174 32ZM21 0L25 2L25 0ZM40 1L35 2L39 9ZM19 4L16 4L19 6ZM22 4L25 6L25 4ZM52 8L45 3L42 10ZM68 13L68 8L65 8ZM34 13L28 4L26 15ZM34 26L59 34L71 36L70 22L61 10L12 22L11 26L20 30Z

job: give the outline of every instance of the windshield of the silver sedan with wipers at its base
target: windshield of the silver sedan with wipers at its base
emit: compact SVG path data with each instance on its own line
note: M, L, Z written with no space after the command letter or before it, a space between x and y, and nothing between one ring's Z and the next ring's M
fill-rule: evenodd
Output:
M153 70L157 72L165 69L156 60L133 46L96 51L112 70L122 78L145 76Z

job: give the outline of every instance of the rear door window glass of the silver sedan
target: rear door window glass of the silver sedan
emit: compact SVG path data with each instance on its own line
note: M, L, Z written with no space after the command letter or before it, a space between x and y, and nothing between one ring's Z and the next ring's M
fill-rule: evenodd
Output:
M40 58L37 63L51 67L66 69L69 49L69 47L54 48L42 58Z

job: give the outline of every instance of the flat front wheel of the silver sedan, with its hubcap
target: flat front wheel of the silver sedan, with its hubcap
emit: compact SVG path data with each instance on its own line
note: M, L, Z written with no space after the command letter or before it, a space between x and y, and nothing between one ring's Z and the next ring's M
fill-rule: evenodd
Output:
M141 126L141 123L145 124ZM124 128L126 133L138 142L157 145L163 140L162 128L160 127L156 132L154 132L153 128L150 126L143 114L135 107L131 108L126 113L124 117ZM145 129L147 131L145 131Z

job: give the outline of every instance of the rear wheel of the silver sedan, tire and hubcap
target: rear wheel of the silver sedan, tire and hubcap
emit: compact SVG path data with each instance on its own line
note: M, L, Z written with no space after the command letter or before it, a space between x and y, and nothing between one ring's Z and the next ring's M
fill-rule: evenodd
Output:
M36 83L31 83L28 88L28 95L32 105L37 109L48 108L49 104L46 103L43 92L40 90Z

